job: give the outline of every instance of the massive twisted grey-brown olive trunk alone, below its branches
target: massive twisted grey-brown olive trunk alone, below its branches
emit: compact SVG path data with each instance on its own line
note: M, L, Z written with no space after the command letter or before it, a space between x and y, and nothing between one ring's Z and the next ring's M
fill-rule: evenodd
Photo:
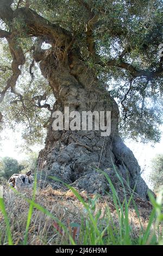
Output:
M36 53L34 57L37 59ZM106 172L116 186L115 165L123 180L129 180L131 188L137 184L136 192L146 197L147 185L141 179L139 164L118 135L117 103L101 88L92 70L84 66L76 54L70 53L63 62L52 50L46 53L40 68L55 95L53 111L64 113L65 107L80 113L111 111L111 134L103 137L101 131L95 130L54 131L51 116L45 149L39 156L39 169L80 190L104 193L110 187L97 168ZM56 182L53 186L58 187Z

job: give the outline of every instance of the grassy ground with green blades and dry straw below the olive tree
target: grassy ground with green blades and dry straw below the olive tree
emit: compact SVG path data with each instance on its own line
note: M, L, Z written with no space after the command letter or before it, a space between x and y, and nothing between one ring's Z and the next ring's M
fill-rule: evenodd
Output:
M0 199L1 245L161 245L162 193L151 203L124 187L98 196L74 188L19 191ZM121 196L120 196L121 195ZM122 196L123 195L123 196Z

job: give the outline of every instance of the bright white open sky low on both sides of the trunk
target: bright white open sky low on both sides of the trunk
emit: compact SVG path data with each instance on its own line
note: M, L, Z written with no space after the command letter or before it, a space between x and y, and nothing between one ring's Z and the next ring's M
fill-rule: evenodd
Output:
M137 161L139 162L141 169L143 170L142 176L146 180L149 187L151 187L148 181L149 174L151 172L151 160L156 154L163 154L163 126L161 127L161 130L161 141L160 143L155 144L155 147L151 147L151 144L136 143L131 140L126 141L127 147L133 151ZM0 145L0 157L10 156L18 161L26 158L26 151L20 150L20 145L23 142L20 127L18 127L17 131L15 132L6 129L1 133L1 135L3 140L1 141ZM43 146L35 146L32 147L32 150L39 151L41 148L43 148Z

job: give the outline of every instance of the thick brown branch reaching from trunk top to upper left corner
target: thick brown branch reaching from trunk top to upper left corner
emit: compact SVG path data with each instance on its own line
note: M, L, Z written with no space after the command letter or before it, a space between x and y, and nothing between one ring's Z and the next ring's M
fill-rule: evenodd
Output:
M57 25L53 25L48 20L37 14L34 10L27 8L17 8L13 11L10 7L13 1L0 0L0 18L4 22L10 22L13 19L20 21L22 25L22 32L26 32L31 36L47 36L52 39L52 42L57 46L65 46L71 41L71 35L66 29ZM14 31L12 28L12 36L18 35L21 31ZM0 31L2 37L7 37L8 34Z

